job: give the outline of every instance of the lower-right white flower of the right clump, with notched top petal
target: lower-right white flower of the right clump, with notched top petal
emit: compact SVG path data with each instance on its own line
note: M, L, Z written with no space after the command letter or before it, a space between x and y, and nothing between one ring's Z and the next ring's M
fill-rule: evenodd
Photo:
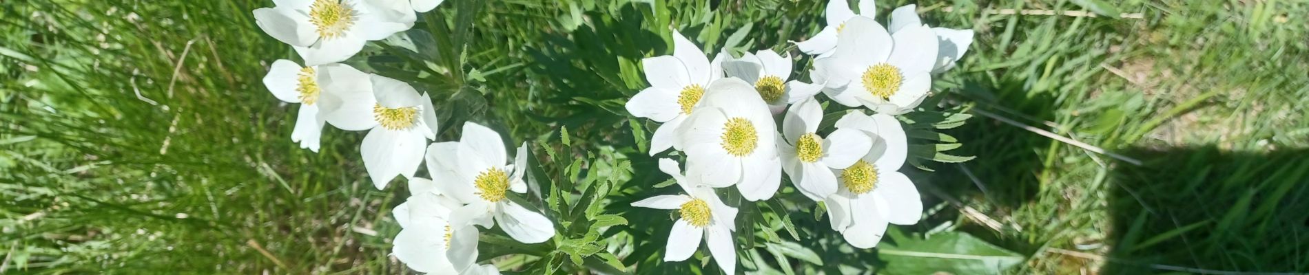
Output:
M905 129L889 115L851 112L836 121L839 129L857 129L873 137L873 147L853 166L838 171L839 189L827 197L827 218L855 248L873 248L888 223L915 224L923 201L914 182L898 172L908 145Z

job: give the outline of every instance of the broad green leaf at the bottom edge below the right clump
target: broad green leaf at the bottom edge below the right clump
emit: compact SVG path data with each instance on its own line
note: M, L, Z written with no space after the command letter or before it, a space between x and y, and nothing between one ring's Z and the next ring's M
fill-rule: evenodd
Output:
M945 232L929 239L882 242L877 257L886 274L1003 274L1024 257L963 232Z

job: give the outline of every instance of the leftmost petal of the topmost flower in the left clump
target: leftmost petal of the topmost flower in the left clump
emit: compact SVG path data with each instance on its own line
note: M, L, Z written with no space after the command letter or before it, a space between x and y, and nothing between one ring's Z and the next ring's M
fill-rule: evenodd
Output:
M309 17L292 8L259 8L254 10L254 22L263 33L296 47L309 47L318 40L318 31Z

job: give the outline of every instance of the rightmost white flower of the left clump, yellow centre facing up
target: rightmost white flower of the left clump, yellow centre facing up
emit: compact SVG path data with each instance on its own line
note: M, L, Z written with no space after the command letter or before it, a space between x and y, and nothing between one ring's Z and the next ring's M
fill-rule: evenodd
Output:
M466 206L453 215L456 224L473 223L486 228L500 224L509 237L537 244L555 236L555 227L545 215L511 201L508 192L525 193L522 181L528 166L526 143L508 163L500 134L475 123L463 124L458 142L437 142L427 150L427 171L442 182L439 193ZM493 219L493 222L492 222Z

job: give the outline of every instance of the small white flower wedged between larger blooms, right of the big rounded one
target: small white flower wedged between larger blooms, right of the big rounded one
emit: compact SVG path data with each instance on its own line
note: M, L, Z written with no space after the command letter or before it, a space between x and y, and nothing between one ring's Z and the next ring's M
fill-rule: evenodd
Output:
M857 129L836 129L826 138L818 136L822 106L809 98L791 106L781 123L785 142L778 142L781 168L801 194L822 201L836 193L836 175L868 154L873 146L868 134Z

